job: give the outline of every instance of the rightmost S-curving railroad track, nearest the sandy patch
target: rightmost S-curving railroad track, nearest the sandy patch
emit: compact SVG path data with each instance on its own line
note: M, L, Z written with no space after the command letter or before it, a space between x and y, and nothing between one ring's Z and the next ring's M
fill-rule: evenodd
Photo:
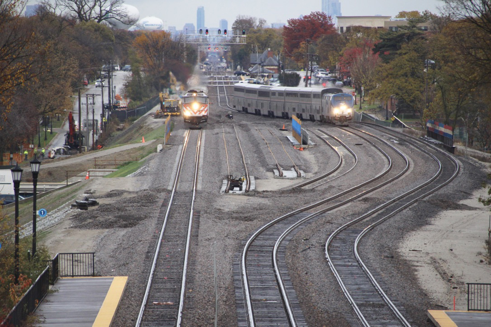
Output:
M359 129L356 130L361 132ZM387 130L384 131L387 132ZM391 132L389 134L394 137L403 136L402 133ZM411 138L404 136L406 139ZM447 185L459 173L458 162L448 153L431 146L430 149L435 154L430 153L418 145L414 138L407 142L434 158L438 164L435 174L407 192L339 227L328 237L325 246L329 267L362 326L411 325L404 316L402 306L396 305L398 303L389 299L374 274L369 271L361 259L358 252L361 239L387 219ZM447 161L445 166L451 165L454 169L444 169L442 161Z

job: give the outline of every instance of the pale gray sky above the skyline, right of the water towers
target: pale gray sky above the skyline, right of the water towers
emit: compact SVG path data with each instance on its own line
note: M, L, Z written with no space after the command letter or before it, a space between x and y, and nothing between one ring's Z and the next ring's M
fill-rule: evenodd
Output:
M322 0L125 0L138 8L140 19L156 16L164 21L164 27L184 24L196 26L198 6L205 9L206 27L218 27L220 19L228 21L230 28L238 15L266 19L268 24L287 23L288 19L321 11ZM395 16L400 11L426 9L438 14L441 0L340 0L343 16L383 15Z

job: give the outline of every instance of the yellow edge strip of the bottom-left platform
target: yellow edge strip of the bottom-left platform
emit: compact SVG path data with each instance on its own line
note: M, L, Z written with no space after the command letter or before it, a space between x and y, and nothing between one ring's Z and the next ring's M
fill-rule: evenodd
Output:
M114 277L112 279L108 294L106 294L106 298L104 299L104 302L99 309L99 313L95 318L94 325L92 325L93 327L111 326L119 302L121 302L121 298L123 297L123 292L126 287L127 281L127 276Z

